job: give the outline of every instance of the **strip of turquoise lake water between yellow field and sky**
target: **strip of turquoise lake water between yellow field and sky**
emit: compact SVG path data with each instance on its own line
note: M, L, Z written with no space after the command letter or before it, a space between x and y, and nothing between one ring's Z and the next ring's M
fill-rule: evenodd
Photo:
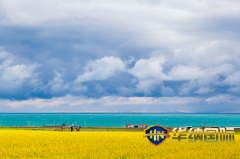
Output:
M178 126L240 126L240 114L132 114L132 113L0 113L0 126L123 127L125 124Z

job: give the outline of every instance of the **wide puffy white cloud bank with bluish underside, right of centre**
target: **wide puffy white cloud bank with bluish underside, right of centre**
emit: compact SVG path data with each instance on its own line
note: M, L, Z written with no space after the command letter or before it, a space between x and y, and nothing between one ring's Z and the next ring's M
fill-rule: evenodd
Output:
M208 87L227 83L226 80L223 82L222 78L228 79L235 71L231 64L223 64L208 68L200 68L195 65L177 65L173 66L168 72L163 72L164 66L168 66L168 61L170 60L164 56L138 60L135 66L128 70L139 81L136 84L136 91L151 94L151 90L163 81L184 81L185 83L182 84L179 91L180 95L189 94L194 89L197 89L195 90L196 94L205 94L214 91L214 89ZM236 77L238 76L240 77L236 73Z

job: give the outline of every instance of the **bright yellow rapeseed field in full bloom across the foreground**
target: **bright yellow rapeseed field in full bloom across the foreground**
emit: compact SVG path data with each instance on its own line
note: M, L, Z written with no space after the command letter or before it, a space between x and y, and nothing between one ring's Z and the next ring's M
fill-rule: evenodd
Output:
M57 132L0 130L0 158L240 158L234 143L178 143L154 146L143 132Z

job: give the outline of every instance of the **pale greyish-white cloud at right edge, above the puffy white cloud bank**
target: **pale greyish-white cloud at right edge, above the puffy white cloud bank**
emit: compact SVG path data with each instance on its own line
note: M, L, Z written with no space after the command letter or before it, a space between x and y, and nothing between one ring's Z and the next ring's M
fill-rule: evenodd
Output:
M239 66L239 50L238 42L231 38L229 40L219 40L217 37L213 40L203 38L196 44L175 48L171 62L173 65L180 62L182 65L198 66L202 69L224 64Z

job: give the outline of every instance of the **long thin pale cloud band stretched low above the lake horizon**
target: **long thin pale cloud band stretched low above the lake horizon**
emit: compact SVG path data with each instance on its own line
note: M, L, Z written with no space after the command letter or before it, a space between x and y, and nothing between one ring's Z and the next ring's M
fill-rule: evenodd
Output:
M16 100L1 100L1 106L9 106L12 108L19 107L58 107L60 105L64 106L91 106L97 105L99 107L106 106L124 106L124 105L184 105L190 103L200 102L202 99L193 98L193 97L113 97L106 96L99 99L86 98L83 96L72 96L66 95L64 97L53 97L51 99L28 99L22 101ZM106 108L108 109L108 108Z

